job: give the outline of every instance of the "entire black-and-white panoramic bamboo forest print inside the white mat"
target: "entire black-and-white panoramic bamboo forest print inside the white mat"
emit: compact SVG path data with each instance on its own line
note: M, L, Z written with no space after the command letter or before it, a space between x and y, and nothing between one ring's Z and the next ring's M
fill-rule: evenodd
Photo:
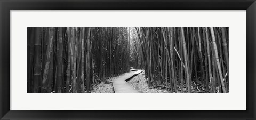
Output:
M228 93L228 27L28 27L28 93Z

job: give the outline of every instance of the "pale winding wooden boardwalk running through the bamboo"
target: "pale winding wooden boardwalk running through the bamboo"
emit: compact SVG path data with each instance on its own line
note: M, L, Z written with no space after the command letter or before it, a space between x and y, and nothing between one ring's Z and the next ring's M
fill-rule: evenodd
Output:
M131 85L129 85L126 81L129 81L132 77L142 73L142 70L130 69L131 71L135 71L134 73L123 75L118 78L113 79L113 87L115 93L139 93Z

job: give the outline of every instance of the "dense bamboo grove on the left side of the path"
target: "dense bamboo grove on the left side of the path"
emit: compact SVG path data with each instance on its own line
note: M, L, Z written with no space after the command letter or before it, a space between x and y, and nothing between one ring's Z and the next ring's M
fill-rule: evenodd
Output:
M28 28L28 92L91 92L130 70L127 28Z

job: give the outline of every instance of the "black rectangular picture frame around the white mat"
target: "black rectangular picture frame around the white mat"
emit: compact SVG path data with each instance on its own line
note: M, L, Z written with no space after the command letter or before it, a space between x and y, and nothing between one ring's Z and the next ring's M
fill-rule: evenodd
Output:
M256 119L255 0L1 0L1 119ZM10 10L246 10L245 111L14 111L10 110ZM222 102L228 102L222 100ZM234 105L235 106L235 105Z

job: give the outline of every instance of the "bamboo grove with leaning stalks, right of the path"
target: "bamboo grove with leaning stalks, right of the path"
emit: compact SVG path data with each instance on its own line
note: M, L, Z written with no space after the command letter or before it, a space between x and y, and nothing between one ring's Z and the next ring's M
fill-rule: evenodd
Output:
M135 28L148 86L228 92L228 28ZM135 40L134 40L135 41ZM138 48L138 47L135 47ZM138 63L138 62L134 62Z

